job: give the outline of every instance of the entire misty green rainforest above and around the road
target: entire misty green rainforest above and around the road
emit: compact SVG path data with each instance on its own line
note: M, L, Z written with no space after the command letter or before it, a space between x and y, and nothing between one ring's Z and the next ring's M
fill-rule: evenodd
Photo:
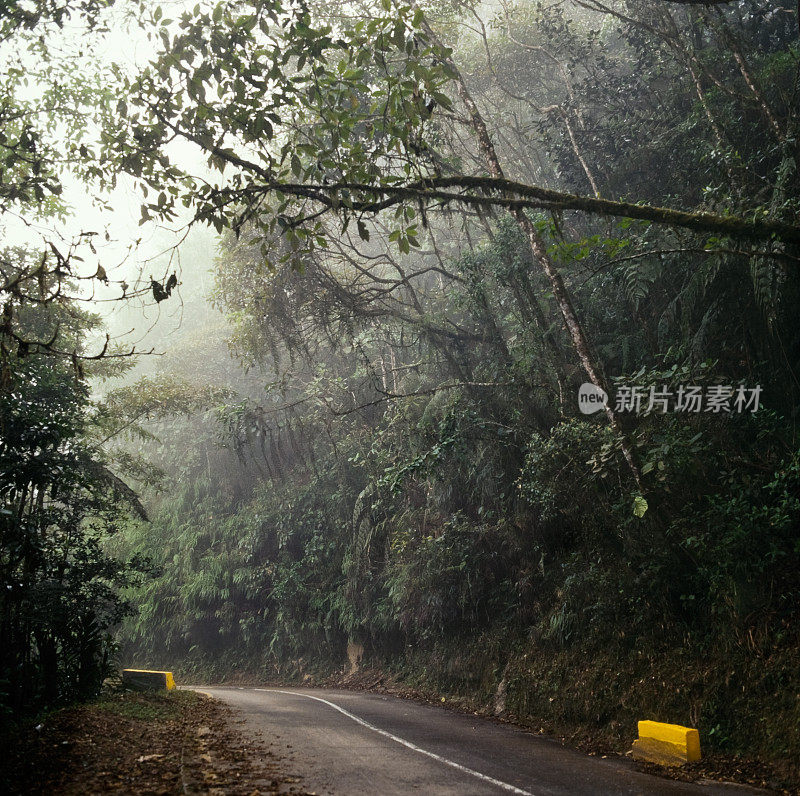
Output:
M0 723L128 666L796 767L794 2L12 0L0 53Z

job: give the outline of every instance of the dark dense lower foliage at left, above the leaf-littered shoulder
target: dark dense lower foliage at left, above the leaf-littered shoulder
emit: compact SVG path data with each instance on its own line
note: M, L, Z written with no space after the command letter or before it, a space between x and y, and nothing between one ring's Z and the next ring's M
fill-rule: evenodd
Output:
M135 497L87 442L88 389L69 364L4 358L0 393L0 682L15 715L97 692L109 631L130 610L117 589L145 562L104 540Z

